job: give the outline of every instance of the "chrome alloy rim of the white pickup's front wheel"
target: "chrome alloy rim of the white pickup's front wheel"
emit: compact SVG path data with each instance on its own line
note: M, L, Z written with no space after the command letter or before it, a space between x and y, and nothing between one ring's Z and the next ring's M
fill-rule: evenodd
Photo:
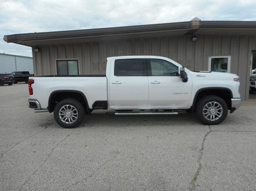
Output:
M218 120L223 114L223 108L216 101L208 102L203 107L203 116L209 121Z

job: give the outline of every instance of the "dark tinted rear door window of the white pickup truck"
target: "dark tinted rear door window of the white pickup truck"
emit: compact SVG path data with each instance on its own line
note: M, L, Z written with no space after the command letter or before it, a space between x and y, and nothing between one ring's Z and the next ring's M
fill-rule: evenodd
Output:
M146 76L146 72L146 64L143 64L143 59L115 60L115 76Z

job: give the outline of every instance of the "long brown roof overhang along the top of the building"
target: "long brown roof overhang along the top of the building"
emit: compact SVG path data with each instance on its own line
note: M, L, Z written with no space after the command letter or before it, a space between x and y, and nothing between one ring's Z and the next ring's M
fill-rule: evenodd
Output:
M251 35L256 21L200 21L6 35L3 40L25 46L172 35Z

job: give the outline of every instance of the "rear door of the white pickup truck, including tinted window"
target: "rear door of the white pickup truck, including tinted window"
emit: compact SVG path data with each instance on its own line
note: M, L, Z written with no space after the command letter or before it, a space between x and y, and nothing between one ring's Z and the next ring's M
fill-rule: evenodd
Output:
M149 84L146 59L115 59L109 80L110 109L147 107Z

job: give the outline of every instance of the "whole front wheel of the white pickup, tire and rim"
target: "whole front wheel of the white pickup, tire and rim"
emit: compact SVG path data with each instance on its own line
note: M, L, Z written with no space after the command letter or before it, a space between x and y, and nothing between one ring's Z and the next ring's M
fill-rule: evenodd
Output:
M228 105L219 96L205 96L199 99L196 114L204 124L217 125L227 117Z

